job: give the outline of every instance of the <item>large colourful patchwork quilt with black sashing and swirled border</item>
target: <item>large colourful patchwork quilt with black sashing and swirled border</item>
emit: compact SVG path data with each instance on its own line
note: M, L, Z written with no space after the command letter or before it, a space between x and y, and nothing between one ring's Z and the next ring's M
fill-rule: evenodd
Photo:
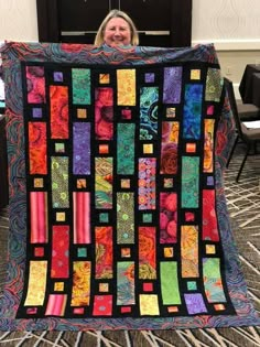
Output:
M223 167L213 45L2 48L10 166L0 329L257 325Z

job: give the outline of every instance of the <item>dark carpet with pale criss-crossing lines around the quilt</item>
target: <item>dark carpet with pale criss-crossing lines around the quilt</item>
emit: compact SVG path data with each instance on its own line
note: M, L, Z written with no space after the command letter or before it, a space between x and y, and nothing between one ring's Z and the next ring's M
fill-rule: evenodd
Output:
M250 156L239 183L242 149L225 173L225 189L248 292L260 312L260 155ZM6 275L8 209L0 212L0 284ZM259 327L156 332L0 332L4 347L256 347Z

